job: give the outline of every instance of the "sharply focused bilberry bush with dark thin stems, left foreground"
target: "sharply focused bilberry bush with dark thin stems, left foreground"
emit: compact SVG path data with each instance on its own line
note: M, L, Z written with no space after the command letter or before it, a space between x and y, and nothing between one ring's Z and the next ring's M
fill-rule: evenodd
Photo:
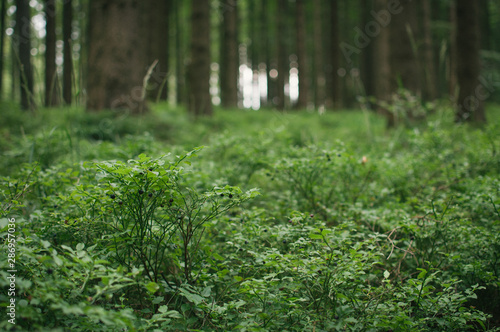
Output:
M129 162L89 164L99 172L96 185L80 185L70 199L89 220L104 223L103 245L117 263L141 266L154 282L177 286L193 283L203 256L200 241L206 227L230 208L255 197L237 187L214 186L198 192L185 182L195 149L175 161L145 155ZM176 272L182 271L182 278Z

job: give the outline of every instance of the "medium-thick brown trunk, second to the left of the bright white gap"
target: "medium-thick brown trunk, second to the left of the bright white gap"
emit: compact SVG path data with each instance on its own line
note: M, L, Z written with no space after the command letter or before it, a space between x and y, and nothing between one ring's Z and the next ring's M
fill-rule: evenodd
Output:
M188 68L189 112L212 115L210 97L210 1L191 2L191 63Z

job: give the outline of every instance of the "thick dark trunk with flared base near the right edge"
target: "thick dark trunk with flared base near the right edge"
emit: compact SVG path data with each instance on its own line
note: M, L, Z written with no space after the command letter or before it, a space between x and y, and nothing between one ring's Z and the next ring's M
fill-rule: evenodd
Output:
M479 82L479 3L457 0L457 78L458 94L456 122L485 123L484 99L489 92Z

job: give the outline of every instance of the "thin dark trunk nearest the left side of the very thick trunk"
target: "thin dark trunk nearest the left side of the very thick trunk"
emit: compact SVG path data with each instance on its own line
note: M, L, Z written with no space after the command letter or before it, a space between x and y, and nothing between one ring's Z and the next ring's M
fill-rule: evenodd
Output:
M71 49L71 33L73 23L73 3L63 2L63 99L71 105L73 96L73 50ZM92 28L91 28L92 29Z

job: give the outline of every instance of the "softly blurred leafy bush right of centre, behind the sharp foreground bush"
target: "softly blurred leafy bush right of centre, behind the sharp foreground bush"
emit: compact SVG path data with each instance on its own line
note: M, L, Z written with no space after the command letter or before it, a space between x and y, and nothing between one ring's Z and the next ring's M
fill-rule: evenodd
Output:
M275 164L274 176L294 198L290 209L318 213L335 221L345 206L356 204L372 181L373 164L344 147L321 150L315 146L291 149L291 155Z

